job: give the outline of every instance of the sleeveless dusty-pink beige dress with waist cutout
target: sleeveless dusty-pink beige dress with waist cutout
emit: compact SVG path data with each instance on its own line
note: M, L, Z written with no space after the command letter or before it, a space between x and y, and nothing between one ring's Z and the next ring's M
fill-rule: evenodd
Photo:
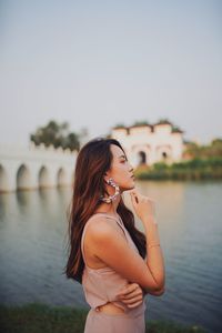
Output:
M117 299L119 291L127 285L129 281L109 266L91 269L87 265L83 251L84 234L88 225L93 223L94 218L99 214L104 215L107 219L114 219L123 230L129 246L139 253L121 219L115 219L107 213L95 213L88 220L81 239L82 256L85 264L82 275L82 287L85 301L91 306L87 316L84 333L144 333L144 299L139 306L129 309L124 303ZM100 312L98 306L108 302L112 302L114 305L123 309L124 313L108 314L102 311Z

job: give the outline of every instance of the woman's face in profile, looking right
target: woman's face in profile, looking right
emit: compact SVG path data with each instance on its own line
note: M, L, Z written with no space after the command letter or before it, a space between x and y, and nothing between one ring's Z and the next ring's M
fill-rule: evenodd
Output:
M111 169L107 172L108 178L105 179L112 178L120 186L121 192L134 189L133 168L127 160L124 152L115 144L111 144L110 150L113 159Z

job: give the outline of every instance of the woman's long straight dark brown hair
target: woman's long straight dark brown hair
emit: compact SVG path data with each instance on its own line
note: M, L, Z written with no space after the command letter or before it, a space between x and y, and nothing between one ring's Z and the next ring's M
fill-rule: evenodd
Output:
M80 283L82 283L84 269L81 236L87 221L101 204L100 196L107 193L104 174L111 168L111 144L118 145L124 153L119 141L98 138L82 147L77 158L73 195L69 213L69 259L64 268L64 273L68 279L73 279ZM144 259L147 254L145 236L135 228L134 215L125 206L122 198L117 211L135 243L140 255Z

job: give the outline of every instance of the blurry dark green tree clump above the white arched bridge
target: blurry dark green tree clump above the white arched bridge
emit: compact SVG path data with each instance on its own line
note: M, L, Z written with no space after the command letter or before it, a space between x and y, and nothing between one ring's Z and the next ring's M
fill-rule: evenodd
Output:
M77 133L69 132L69 123L57 123L49 121L46 127L38 128L36 133L30 134L30 140L39 145L44 143L47 147L52 144L54 148L62 147L70 150L79 150L80 142Z

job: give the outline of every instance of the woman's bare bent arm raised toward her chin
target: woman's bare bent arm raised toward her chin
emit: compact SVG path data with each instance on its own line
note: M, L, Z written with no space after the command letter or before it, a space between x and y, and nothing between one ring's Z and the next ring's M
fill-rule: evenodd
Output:
M145 230L148 243L145 263L104 216L100 215L97 219L97 223L89 225L90 246L94 254L128 281L140 284L145 292L160 292L164 286L162 251L160 246L149 248L149 244L159 242L157 225L149 226L148 223Z

